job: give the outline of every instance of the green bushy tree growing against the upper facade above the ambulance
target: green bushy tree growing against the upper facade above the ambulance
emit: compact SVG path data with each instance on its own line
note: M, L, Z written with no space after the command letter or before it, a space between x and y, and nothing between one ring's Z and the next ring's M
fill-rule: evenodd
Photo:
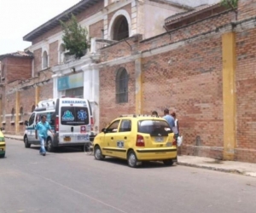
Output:
M85 51L88 47L87 29L79 25L73 14L71 14L70 19L66 23L61 20L60 22L64 32L62 40L65 50L69 50L68 54L75 55L77 59L85 55Z

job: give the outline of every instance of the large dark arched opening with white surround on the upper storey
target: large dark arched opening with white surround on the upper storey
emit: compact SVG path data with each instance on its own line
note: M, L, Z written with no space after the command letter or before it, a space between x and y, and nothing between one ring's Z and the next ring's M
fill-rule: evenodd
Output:
M120 41L129 37L128 22L124 15L119 15L113 24L113 40Z

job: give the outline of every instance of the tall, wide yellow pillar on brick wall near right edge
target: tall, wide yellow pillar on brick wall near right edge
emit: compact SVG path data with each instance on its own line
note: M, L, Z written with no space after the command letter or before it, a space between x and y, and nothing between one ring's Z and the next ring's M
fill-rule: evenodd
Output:
M236 148L236 35L222 36L224 159L234 160Z

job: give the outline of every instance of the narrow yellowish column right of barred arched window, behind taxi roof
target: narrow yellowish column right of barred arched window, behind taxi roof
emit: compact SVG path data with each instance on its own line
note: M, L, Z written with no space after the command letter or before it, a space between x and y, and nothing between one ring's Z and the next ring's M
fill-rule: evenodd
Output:
M143 70L142 58L135 60L135 78L136 78L136 113L143 114Z

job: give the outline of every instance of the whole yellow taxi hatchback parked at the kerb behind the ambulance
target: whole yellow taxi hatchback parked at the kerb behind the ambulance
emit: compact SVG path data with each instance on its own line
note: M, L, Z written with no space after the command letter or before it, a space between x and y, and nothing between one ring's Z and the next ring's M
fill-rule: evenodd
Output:
M114 119L94 139L94 156L123 158L131 167L143 161L177 162L177 141L164 118L127 115Z

